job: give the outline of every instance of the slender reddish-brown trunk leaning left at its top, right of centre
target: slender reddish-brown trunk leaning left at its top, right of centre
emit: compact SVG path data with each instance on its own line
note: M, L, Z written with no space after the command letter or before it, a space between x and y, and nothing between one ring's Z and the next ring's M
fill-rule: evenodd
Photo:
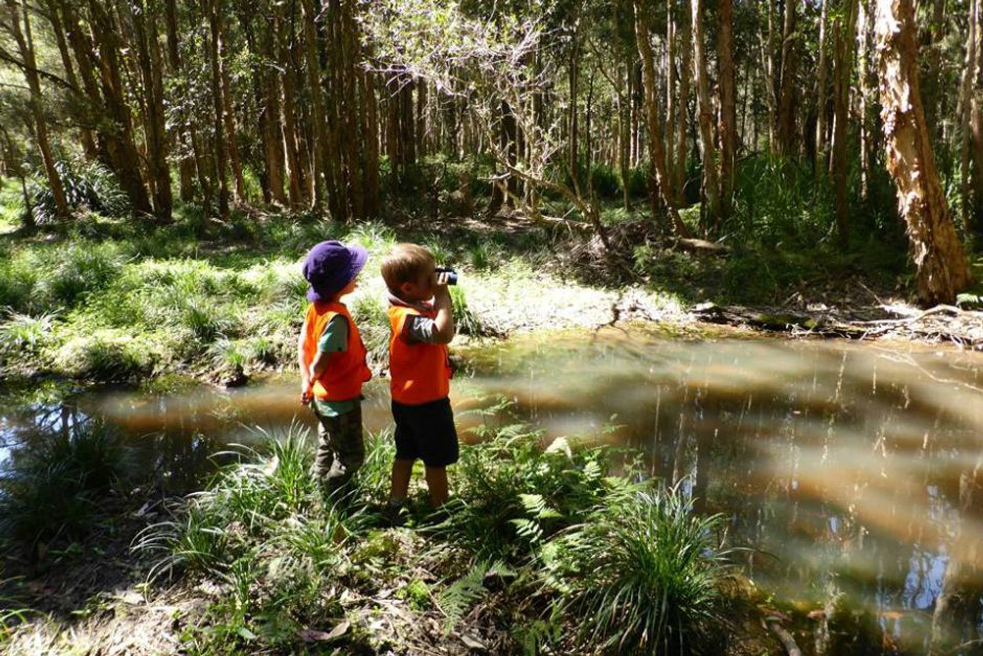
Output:
M656 106L656 71L652 43L649 41L651 32L648 16L640 0L634 0L632 4L635 10L635 43L642 60L642 86L645 89L644 106L649 131L649 160L652 167L650 195L653 219L657 220L659 211L657 206L658 201L661 200L668 212L671 230L679 237L689 237L691 236L689 228L679 217L675 194L672 192L672 182L665 171L665 146L662 126L659 125L659 107Z

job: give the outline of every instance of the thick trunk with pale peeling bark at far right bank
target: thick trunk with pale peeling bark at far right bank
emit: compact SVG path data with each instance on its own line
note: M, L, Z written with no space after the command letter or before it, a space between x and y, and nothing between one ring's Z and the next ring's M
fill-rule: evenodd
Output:
M953 303L971 280L925 124L914 31L911 0L877 0L875 33L887 166L895 179L898 208L918 269L918 297L924 304Z

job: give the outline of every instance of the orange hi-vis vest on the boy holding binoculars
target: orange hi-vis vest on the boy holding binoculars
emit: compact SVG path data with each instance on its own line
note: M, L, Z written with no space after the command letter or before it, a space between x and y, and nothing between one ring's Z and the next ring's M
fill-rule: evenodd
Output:
M444 398L450 391L450 360L445 344L411 344L402 338L411 315L435 319L436 310L389 306L389 391L394 401L419 405Z

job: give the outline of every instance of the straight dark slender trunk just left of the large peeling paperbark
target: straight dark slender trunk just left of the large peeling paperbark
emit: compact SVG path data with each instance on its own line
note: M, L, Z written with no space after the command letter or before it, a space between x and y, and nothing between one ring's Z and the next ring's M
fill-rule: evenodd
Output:
M850 72L853 66L853 37L856 30L857 0L845 0L836 20L836 52L833 89L833 180L837 194L837 232L846 244L849 230L846 205L846 122L849 114Z

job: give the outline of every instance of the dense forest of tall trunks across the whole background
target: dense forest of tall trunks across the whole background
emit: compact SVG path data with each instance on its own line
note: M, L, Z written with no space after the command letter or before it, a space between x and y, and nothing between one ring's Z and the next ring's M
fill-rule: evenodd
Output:
M786 249L903 226L918 298L953 303L983 221L979 12L915 4L11 0L6 207L353 222L415 198L559 214L628 260L614 208Z

